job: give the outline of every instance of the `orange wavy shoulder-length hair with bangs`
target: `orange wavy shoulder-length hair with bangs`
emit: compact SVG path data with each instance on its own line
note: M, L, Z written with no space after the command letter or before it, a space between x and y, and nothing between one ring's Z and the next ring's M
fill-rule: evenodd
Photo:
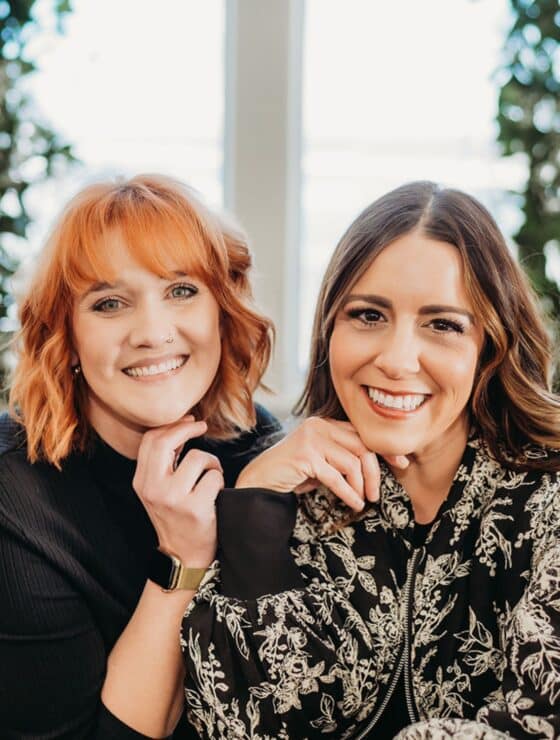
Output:
M183 183L161 175L86 187L62 213L33 280L20 301L19 361L10 411L26 430L30 461L56 466L83 450L90 427L87 386L73 377L74 301L92 283L113 282L108 232L118 229L134 259L169 277L181 269L201 279L220 307L218 372L193 409L208 434L233 437L255 422L252 396L261 385L272 345L272 324L252 305L251 255L245 235L212 213Z

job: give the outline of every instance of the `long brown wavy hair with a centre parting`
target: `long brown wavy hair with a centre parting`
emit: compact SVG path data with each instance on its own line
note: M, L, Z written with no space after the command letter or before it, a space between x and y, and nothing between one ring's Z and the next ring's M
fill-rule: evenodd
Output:
M294 412L346 419L329 369L329 340L345 295L377 255L404 234L455 246L484 345L469 410L494 457L520 469L560 469L560 399L551 392L551 342L525 274L475 198L413 182L367 207L338 243L319 294L310 369Z

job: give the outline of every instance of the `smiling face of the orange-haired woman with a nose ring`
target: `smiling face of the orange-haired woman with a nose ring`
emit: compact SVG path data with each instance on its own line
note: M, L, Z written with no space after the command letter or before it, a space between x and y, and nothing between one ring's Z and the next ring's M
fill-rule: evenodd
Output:
M92 427L135 457L146 429L179 420L210 388L220 363L220 309L200 280L180 272L162 278L132 258L118 232L106 238L116 278L76 298L74 361Z

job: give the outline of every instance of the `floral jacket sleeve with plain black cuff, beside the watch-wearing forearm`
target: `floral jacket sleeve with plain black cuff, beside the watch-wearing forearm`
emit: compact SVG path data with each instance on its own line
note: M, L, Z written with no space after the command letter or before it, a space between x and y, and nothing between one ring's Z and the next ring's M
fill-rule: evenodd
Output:
M344 588L300 573L290 551L295 515L293 494L220 495L219 566L181 634L186 711L202 737L341 737L373 708L368 630ZM320 543L309 546L310 559L321 557ZM362 705L356 690L367 695Z

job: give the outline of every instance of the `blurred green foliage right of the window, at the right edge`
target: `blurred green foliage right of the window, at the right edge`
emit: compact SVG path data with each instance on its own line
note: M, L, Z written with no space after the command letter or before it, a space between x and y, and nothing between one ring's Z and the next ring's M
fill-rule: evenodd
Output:
M546 267L547 259L560 262L560 3L510 0L510 6L498 140L506 156L526 155L524 220L514 239L519 260L558 327L560 291Z

